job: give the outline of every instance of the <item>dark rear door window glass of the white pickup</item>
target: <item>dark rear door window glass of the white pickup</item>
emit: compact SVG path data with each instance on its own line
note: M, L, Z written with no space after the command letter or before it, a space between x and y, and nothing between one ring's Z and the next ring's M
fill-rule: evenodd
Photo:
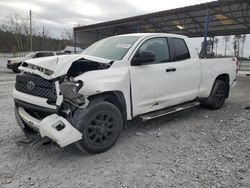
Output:
M190 58L190 53L186 42L183 39L172 38L173 45L175 48L175 60L180 61Z

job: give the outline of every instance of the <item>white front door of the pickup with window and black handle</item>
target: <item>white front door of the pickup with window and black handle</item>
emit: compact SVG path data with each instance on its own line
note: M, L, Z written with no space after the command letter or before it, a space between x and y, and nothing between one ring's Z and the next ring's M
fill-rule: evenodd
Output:
M155 61L131 64L131 95L133 116L171 106L173 74L169 69L170 61L168 41L164 37L151 38L144 41L136 54L153 52ZM133 61L133 60L132 60Z

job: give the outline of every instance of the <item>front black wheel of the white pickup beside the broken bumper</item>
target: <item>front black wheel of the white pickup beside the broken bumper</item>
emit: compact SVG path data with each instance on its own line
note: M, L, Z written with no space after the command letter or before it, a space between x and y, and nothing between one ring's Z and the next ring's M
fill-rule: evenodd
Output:
M96 154L107 151L118 140L123 128L120 110L106 101L91 102L84 110L74 113L72 124L82 133L76 142L78 149Z

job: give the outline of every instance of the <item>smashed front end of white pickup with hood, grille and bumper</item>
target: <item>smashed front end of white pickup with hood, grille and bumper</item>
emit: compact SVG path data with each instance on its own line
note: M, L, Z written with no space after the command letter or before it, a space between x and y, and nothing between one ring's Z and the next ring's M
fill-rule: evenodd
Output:
M89 104L79 93L86 72L108 69L113 61L82 55L41 58L24 62L13 91L18 124L27 131L37 131L64 147L81 140L73 117ZM30 130L31 129L31 130ZM27 135L27 134L26 134Z

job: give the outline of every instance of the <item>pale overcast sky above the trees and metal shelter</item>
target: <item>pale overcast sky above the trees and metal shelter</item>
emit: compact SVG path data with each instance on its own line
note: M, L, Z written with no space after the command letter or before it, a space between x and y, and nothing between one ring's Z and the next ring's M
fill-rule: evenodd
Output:
M28 18L29 10L33 13L34 26L42 31L42 26L54 37L61 37L64 28L76 25L109 21L160 10L168 10L188 5L210 2L211 0L0 0L0 25L6 17L19 14ZM195 40L200 48L201 39ZM232 42L232 41L231 41ZM230 42L230 44L231 44ZM220 38L219 53L223 51L223 39ZM230 45L232 46L232 45ZM228 53L233 50L228 49ZM250 56L250 36L245 48Z

